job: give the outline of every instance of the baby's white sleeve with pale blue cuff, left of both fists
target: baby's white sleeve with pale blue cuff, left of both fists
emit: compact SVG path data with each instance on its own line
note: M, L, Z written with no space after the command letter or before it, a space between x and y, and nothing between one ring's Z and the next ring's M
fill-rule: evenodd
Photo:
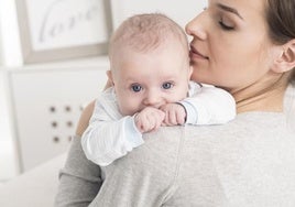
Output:
M103 105L103 103L102 103ZM133 117L118 118L111 102L102 107L101 98L96 102L89 126L81 137L86 157L101 166L125 155L143 143L142 133L136 129Z

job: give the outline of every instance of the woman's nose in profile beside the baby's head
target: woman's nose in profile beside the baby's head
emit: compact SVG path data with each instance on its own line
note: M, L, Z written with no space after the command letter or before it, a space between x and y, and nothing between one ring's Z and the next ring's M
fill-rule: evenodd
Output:
M201 12L196 18L190 20L185 26L185 31L186 31L186 33L188 35L190 35L193 37L197 37L199 40L206 40L207 39L207 34L206 34L206 31L205 31L205 23L203 22L204 21L204 15L205 15L204 12Z

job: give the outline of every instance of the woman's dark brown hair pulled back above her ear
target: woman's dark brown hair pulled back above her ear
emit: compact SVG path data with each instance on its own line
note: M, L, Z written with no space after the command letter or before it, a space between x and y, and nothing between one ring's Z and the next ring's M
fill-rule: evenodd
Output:
M277 44L295 39L295 0L267 0L266 3L271 39ZM295 83L295 68L289 78Z

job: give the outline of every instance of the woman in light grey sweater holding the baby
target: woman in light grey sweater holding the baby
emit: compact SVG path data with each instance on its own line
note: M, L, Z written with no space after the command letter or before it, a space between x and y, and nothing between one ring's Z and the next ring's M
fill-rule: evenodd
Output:
M103 174L75 138L56 206L295 206L294 10L295 0L209 0L186 26L193 79L230 91L237 119L162 128Z

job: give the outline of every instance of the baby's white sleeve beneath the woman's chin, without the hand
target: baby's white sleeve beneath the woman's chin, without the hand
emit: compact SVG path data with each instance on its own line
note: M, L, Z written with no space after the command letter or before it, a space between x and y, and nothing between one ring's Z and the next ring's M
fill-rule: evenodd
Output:
M234 119L236 101L226 90L203 86L190 97L182 100L188 124L222 124Z

